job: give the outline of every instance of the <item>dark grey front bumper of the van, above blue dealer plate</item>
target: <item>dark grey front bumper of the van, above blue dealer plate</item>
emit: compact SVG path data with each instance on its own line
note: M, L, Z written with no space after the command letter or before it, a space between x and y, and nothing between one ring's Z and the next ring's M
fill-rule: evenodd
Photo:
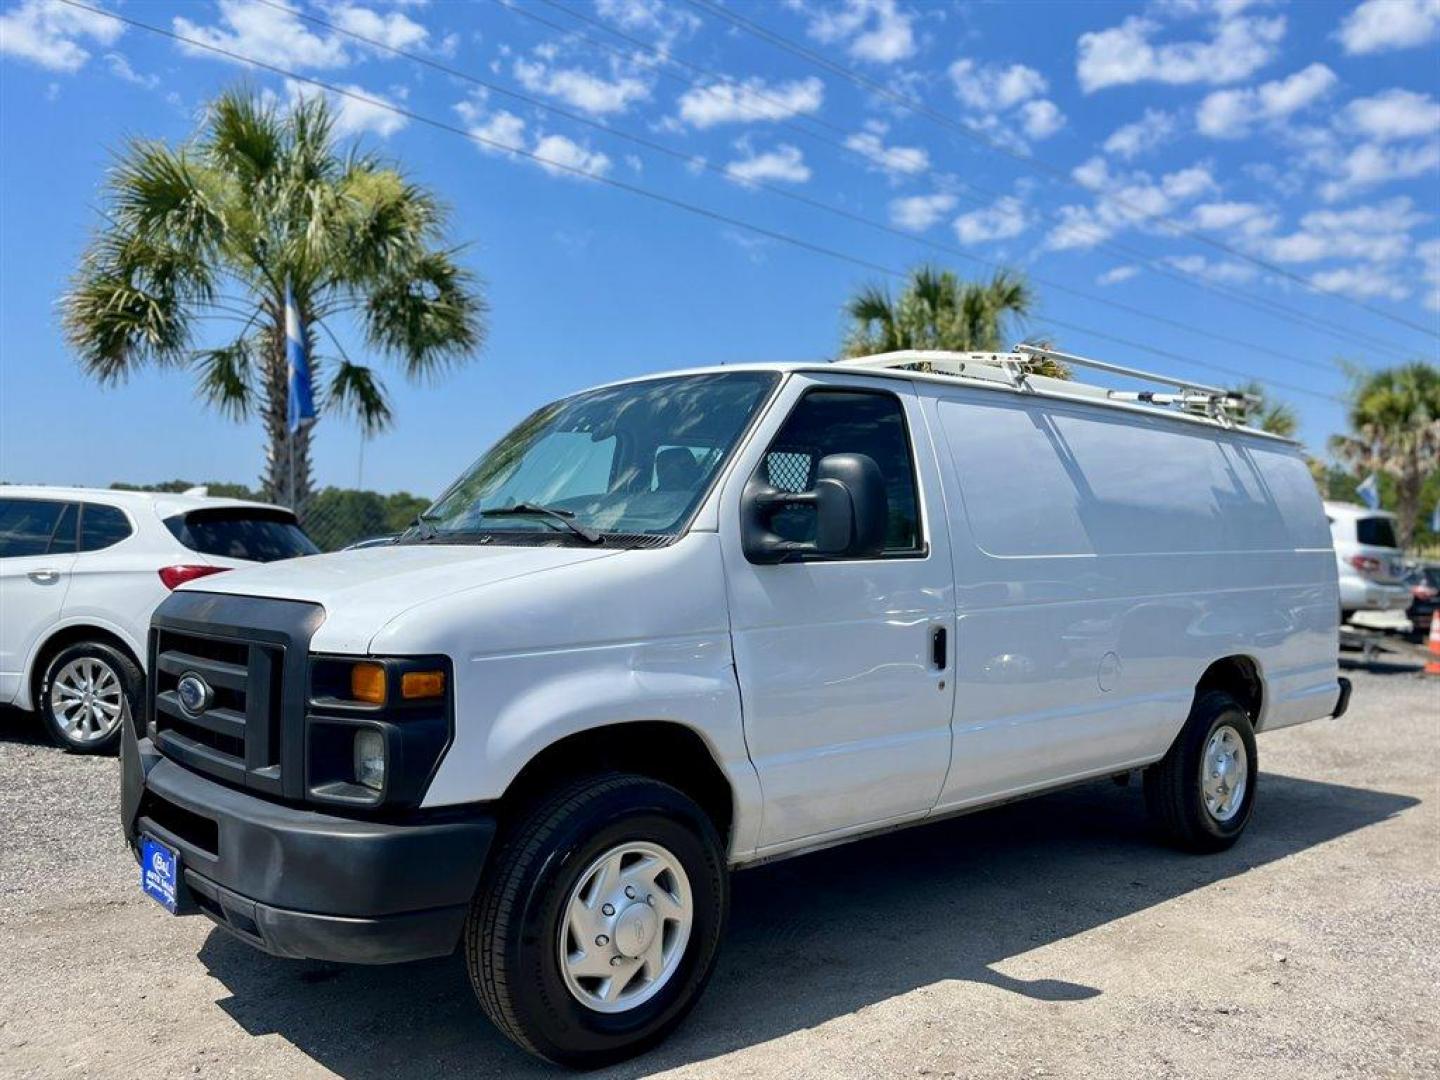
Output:
M276 956L395 963L459 940L495 835L478 812L390 824L262 799L161 757L127 724L121 818L180 852L180 913Z

